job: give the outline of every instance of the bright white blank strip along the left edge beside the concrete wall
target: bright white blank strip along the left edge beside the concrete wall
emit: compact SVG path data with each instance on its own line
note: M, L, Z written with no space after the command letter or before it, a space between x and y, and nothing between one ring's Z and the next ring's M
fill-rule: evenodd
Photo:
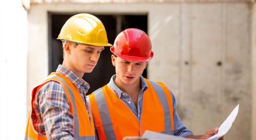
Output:
M27 112L27 12L0 1L0 139L24 139Z

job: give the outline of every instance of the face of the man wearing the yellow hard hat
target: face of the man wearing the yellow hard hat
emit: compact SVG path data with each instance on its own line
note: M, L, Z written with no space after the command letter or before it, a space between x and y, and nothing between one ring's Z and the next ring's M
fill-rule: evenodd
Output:
M87 44L78 44L75 46L75 44L71 42L70 51L66 51L66 53L69 53L69 68L77 76L92 72L103 49L103 46L92 46Z

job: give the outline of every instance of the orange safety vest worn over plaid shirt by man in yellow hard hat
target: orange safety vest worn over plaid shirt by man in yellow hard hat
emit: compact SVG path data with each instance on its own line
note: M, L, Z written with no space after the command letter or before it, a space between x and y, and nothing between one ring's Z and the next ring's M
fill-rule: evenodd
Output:
M73 133L76 139L95 139L95 129L91 107L89 107L90 118L84 105L84 102L75 87L75 85L66 76L60 73L51 73L39 86L35 87L32 91L32 99L35 98L36 94L42 86L44 86L49 81L56 81L60 83L67 94L70 112L72 113L73 119ZM32 104L33 105L33 104ZM32 109L31 109L32 110ZM47 139L46 135L38 133L34 127L31 119L31 111L28 117L27 129L25 134L25 139Z

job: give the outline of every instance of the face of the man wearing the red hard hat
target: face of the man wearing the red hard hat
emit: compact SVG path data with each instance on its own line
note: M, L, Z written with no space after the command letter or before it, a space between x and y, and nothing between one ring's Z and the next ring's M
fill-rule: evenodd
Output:
M140 76L147 62L129 61L112 55L112 64L116 67L116 82L122 85L133 85L140 82Z

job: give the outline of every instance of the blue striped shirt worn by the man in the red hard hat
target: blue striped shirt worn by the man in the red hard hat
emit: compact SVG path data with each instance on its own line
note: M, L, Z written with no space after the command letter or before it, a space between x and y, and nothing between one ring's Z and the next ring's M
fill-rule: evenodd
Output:
M118 98L121 99L133 111L133 113L137 116L137 119L140 121L143 93L148 88L145 79L143 78L143 76L140 76L141 90L140 90L139 96L138 96L138 103L137 103L138 109L136 108L135 104L133 103L131 97L116 86L116 84L114 82L115 79L116 79L116 75L113 75L110 79L110 82L108 83L108 86L117 94ZM183 125L183 122L181 121L181 119L177 113L177 110L176 110L176 99L171 91L170 91L170 93L172 94L172 97L173 97L174 135L186 137L189 134L193 134L191 131L189 131Z

